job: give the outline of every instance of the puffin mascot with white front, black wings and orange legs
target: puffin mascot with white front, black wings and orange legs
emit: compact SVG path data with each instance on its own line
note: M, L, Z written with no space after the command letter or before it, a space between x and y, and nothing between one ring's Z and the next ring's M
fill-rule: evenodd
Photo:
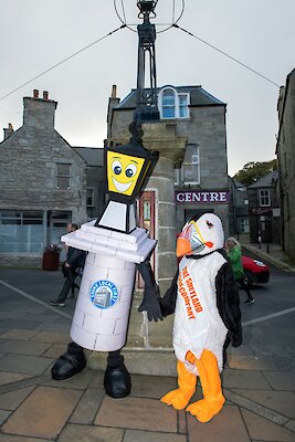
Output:
M225 398L220 372L230 343L242 343L239 293L223 250L219 217L192 218L177 240L179 270L161 299L164 316L175 312L173 348L179 388L161 398L176 410L189 411L200 422L218 414ZM198 376L203 398L188 406ZM188 407L187 407L188 406Z

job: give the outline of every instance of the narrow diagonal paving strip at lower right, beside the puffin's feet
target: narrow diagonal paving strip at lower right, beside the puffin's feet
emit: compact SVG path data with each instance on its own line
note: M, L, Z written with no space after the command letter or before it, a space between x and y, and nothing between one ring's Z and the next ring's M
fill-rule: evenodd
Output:
M268 421L276 423L281 427L283 427L285 423L289 421L289 418L286 418L283 414L277 413L276 411L273 411L266 407L261 406L260 403L256 403L250 399L246 399L240 394L234 393L231 390L223 389L223 394L228 400L231 402L235 403L239 407L242 407L249 411L252 411L255 414L261 415L264 419L267 419ZM292 425L289 428L291 431L294 432L294 429L292 429Z

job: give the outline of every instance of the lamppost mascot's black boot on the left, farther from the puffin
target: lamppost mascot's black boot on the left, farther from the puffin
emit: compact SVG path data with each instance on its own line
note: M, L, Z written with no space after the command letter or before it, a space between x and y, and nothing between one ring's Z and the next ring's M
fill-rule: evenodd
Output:
M75 343L67 345L67 351L60 356L51 369L52 379L70 379L86 367L83 348Z

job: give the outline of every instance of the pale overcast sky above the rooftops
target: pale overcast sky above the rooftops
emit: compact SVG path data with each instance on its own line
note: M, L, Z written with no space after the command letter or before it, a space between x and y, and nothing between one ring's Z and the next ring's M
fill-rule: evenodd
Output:
M11 123L18 129L22 98L32 96L34 88L41 96L49 91L50 99L59 103L56 130L72 146L103 147L112 85L117 85L120 98L136 87L136 24L141 22L136 0L1 0L0 4L0 127ZM106 36L122 24L116 9L130 29ZM229 173L249 161L275 158L278 86L295 67L295 1L158 0L156 13L158 86L201 85L226 103ZM176 28L166 30L178 19L196 38Z

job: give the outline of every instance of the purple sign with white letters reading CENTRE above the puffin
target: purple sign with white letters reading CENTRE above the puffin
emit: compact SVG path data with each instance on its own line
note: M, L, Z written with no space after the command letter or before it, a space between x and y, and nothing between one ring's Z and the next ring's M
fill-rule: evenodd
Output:
M193 202L198 203L229 203L230 191L229 190L177 190L176 191L177 203Z

